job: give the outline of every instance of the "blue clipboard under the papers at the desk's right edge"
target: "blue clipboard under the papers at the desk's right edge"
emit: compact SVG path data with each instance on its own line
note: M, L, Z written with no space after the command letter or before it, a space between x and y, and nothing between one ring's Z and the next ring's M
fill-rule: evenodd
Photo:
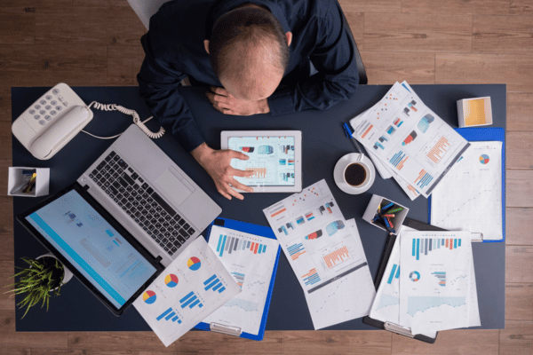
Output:
M498 241L485 241L484 243L493 243L505 241L505 129L501 127L472 127L456 128L463 138L469 142L498 141L502 142L502 235L503 238ZM431 223L431 195L427 200L428 223Z

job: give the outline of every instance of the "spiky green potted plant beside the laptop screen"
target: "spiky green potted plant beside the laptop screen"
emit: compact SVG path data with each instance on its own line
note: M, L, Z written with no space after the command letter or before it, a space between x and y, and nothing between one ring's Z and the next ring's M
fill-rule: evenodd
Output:
M36 259L28 259L22 257L22 260L28 264L28 268L21 268L20 272L15 273L11 278L18 278L19 280L6 287L14 286L14 289L6 293L13 293L14 295L26 294L24 299L20 301L20 308L27 306L26 312L22 318L26 316L30 307L43 302L41 308L46 304L46 311L48 311L48 304L52 294L60 296L60 289L68 280L72 279L72 272L70 272L60 261L52 254L36 257Z

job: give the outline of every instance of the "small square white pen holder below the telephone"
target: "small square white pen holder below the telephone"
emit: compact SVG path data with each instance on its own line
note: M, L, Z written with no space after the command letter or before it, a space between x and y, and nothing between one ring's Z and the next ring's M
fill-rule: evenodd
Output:
M36 181L35 188L31 193L24 193L22 188L26 185L27 177L25 171L35 170ZM50 169L49 168L26 168L26 167L10 167L9 177L7 181L7 195L8 196L23 196L23 197L38 197L48 194L50 186Z

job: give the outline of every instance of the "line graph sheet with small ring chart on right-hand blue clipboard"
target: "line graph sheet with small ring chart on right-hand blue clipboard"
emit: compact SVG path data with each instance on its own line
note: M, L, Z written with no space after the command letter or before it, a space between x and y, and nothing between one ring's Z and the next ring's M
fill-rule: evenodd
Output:
M471 142L461 160L432 194L431 224L448 230L504 238L502 224L502 142Z

